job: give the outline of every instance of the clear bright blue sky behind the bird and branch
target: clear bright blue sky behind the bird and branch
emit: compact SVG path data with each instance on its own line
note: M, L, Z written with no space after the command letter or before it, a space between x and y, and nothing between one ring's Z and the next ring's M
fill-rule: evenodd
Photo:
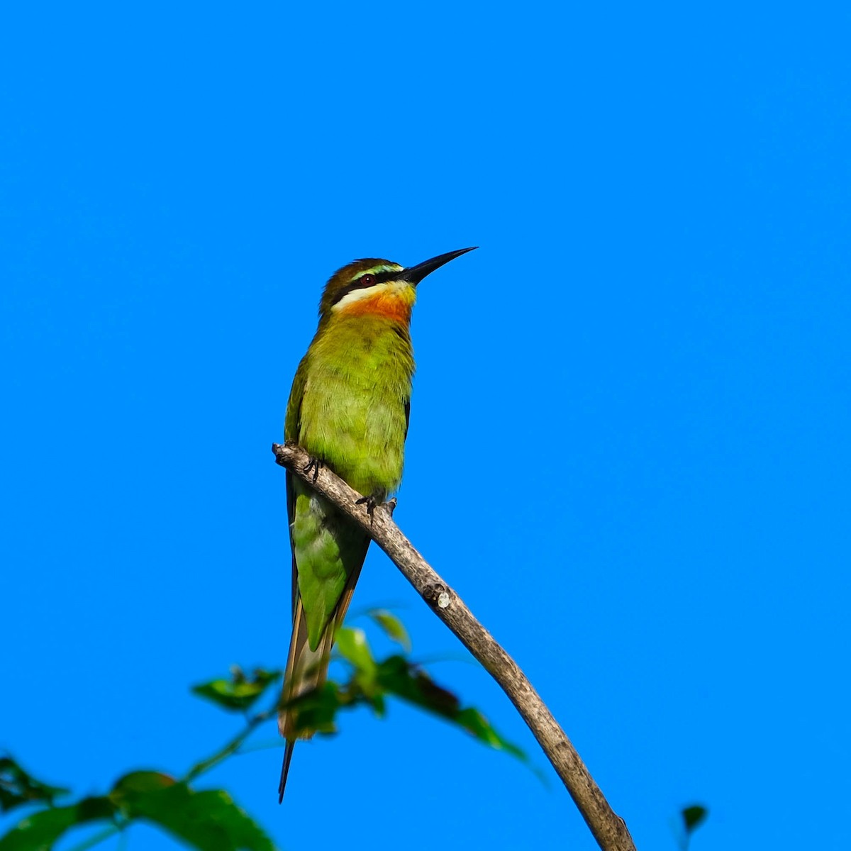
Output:
M421 287L398 522L639 848L694 801L694 851L847 847L849 43L839 3L7 9L0 746L94 792L226 738L188 687L283 664L323 283L480 245ZM463 659L379 551L376 603ZM283 808L277 750L208 781L288 851L594 848L432 670L550 787L398 705Z

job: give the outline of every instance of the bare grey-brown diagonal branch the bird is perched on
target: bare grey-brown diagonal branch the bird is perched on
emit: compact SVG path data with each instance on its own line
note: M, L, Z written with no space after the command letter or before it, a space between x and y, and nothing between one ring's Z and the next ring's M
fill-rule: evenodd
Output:
M361 495L335 476L328 467L321 467L314 481L314 472L306 471L310 456L298 446L273 443L272 452L278 464L300 477L363 528L419 591L420 597L429 604L437 617L460 638L461 643L499 683L563 780L600 848L603 851L636 851L624 820L609 807L574 745L532 688L532 683L476 620L461 598L414 549L414 545L393 522L391 511L378 506L370 518L364 505L356 505Z

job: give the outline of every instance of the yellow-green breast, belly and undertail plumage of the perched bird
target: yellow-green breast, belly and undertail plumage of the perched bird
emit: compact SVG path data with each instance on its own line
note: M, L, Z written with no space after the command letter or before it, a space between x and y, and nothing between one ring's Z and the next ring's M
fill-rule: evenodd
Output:
M331 317L317 331L299 372L300 403L290 399L290 406L299 405L298 422L287 440L358 493L385 500L402 481L414 374L407 325L380 316ZM293 487L294 557L308 643L315 650L346 580L363 563L369 539L305 484Z

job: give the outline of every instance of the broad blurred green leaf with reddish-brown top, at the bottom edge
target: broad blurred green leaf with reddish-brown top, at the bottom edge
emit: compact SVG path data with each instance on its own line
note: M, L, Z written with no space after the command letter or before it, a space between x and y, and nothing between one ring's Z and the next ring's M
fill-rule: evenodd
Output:
M276 851L266 832L226 791L194 791L185 783L157 787L155 772L134 774L144 776L134 778L134 788L123 778L121 793L129 819L152 821L199 851Z

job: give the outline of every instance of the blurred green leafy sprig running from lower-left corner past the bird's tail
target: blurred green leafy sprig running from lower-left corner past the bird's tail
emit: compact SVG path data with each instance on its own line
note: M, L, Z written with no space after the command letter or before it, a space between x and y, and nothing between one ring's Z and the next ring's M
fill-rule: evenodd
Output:
M377 660L361 629L341 628L337 651L346 663L347 677L329 681L298 701L298 725L302 731L336 732L337 713L367 705L379 716L386 712L387 698L396 697L429 711L464 729L486 745L525 759L523 751L505 740L483 714L462 707L455 694L437 685L409 658L410 642L401 621L386 611L371 612L374 624L403 648L403 653ZM12 757L0 757L0 811L26 808L26 814L0 837L0 851L49 851L68 831L100 825L76 851L126 831L138 821L163 831L199 851L276 851L260 825L223 789L199 790L196 780L214 766L239 753L249 736L277 714L277 702L266 711L252 714L254 706L279 683L281 671L257 669L246 673L231 667L221 677L192 688L193 694L220 709L241 713L243 728L214 753L193 765L182 777L141 770L124 774L104 795L82 797L60 805L70 791L49 785L29 774ZM277 689L276 689L277 690Z

